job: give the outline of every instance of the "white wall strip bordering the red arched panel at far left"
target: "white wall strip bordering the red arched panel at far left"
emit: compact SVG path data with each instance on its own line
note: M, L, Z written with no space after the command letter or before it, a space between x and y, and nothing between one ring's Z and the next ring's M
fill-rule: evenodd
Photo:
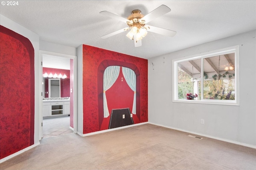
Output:
M34 47L35 52L35 131L34 131L34 143L39 143L39 110L40 106L39 103L42 100L40 93L40 84L42 85L42 74L40 73L40 59L39 59L39 35L36 33L26 29L25 27L15 23L14 21L6 18L5 16L0 15L0 24L12 31L23 35L24 37L28 38Z

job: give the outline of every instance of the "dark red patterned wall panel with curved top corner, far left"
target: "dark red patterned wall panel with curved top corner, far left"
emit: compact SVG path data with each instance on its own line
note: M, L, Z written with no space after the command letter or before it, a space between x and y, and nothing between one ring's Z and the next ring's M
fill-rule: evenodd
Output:
M34 48L0 25L0 159L34 144Z

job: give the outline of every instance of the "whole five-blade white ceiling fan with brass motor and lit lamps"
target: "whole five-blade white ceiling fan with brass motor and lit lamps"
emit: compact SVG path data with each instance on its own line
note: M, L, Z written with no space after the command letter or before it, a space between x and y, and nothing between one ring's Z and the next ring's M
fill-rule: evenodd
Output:
M176 31L172 31L169 29L164 29L160 27L154 27L151 25L146 25L146 23L158 18L159 16L162 16L168 12L170 12L171 9L168 8L165 5L161 5L146 16L141 14L140 10L133 10L132 14L128 16L128 18L122 18L121 16L118 16L116 14L113 14L108 11L102 11L100 14L108 16L110 18L114 18L116 20L122 21L124 23L127 23L129 27L125 27L123 29L120 29L118 31L109 33L107 35L102 36L101 38L105 39L108 37L111 37L113 35L116 35L118 33L122 33L124 31L128 31L127 37L134 40L135 47L140 47L142 45L141 40L143 37L147 35L147 31L158 33L161 35L166 35L169 37L173 37L176 34Z

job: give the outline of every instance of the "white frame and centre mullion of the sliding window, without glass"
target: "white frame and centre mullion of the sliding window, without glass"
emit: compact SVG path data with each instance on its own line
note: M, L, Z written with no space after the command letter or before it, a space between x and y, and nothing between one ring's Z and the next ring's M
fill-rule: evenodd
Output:
M204 95L204 59L214 57L216 55L224 55L228 53L235 53L235 100L210 100L203 99ZM191 61L194 59L201 59L201 100L186 100L178 99L178 63L184 61ZM218 104L218 105L232 105L240 106L240 85L239 85L239 45L218 49L207 53L184 57L182 59L172 60L172 102L179 103L196 103L196 104Z

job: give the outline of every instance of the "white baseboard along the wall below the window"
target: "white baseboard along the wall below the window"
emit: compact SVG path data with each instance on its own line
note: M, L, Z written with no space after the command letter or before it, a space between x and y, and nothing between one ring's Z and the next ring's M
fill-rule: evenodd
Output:
M148 122L148 123L149 123L149 124L152 124L152 125L162 126L162 127L166 127L166 128L169 128L169 129L174 129L174 130L177 130L177 131L192 133L192 134L195 134L195 135L199 135L199 136L203 136L203 137L208 137L208 138L216 139L216 140L219 140L219 141L224 141L224 142L228 142L228 143L234 143L234 144L236 144L236 145L242 145L242 146L244 146L244 147L250 147L250 148L256 149L256 145L250 145L250 144L247 144L247 143L241 143L241 142L237 142L237 141L232 141L232 140L228 140L228 139L223 139L223 138L219 138L219 137L214 137L214 136L210 136L210 135L205 135L205 134L202 134L202 133L196 133L196 132L192 132L192 131L186 131L186 130L184 130L184 129L179 129L179 128L176 128L176 127L170 127L170 126L160 125L160 124L157 124L157 123L151 123L151 122Z

